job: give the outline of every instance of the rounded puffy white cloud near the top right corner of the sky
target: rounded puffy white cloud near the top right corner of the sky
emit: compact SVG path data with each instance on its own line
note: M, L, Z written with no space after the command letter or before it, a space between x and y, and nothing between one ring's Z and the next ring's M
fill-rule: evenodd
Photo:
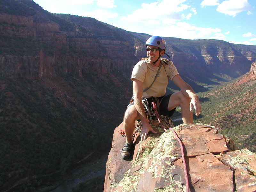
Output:
M251 9L251 4L247 0L228 0L219 4L217 11L235 17L237 13L249 9Z

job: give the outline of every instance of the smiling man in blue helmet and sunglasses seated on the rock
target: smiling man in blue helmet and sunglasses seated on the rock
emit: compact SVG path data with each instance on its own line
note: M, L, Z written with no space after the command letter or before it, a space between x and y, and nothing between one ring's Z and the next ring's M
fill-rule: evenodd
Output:
M147 138L148 132L156 133L148 123L142 98L147 98L149 101L152 100L152 97L161 100L160 114L165 116L172 116L175 108L180 106L184 123L193 123L193 106L196 116L201 113L201 104L194 90L181 79L172 61L161 58L165 54L166 48L164 39L152 36L145 45L148 58L138 62L132 70L133 102L127 107L124 114L126 143L121 155L125 160L132 153L135 120L140 119L142 124L141 142ZM180 92L164 96L168 79L180 88Z

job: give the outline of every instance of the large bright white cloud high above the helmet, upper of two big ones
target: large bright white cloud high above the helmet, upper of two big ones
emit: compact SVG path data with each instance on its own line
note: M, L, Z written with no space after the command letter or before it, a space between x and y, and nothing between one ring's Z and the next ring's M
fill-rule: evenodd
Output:
M121 17L122 20L129 22L148 23L148 20L161 20L163 23L173 23L173 20L182 20L186 18L183 13L189 8L188 5L183 4L186 0L158 0L150 4L142 3L141 8ZM171 8L169 8L171 7ZM196 14L196 10L191 8L191 11ZM187 18L190 18L188 14ZM169 20L167 22L167 20Z

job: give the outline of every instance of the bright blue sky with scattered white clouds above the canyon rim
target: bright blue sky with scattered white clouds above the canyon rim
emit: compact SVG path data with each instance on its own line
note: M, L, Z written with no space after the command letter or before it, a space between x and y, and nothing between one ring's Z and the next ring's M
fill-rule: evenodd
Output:
M34 0L52 13L92 17L127 31L256 45L255 0Z

